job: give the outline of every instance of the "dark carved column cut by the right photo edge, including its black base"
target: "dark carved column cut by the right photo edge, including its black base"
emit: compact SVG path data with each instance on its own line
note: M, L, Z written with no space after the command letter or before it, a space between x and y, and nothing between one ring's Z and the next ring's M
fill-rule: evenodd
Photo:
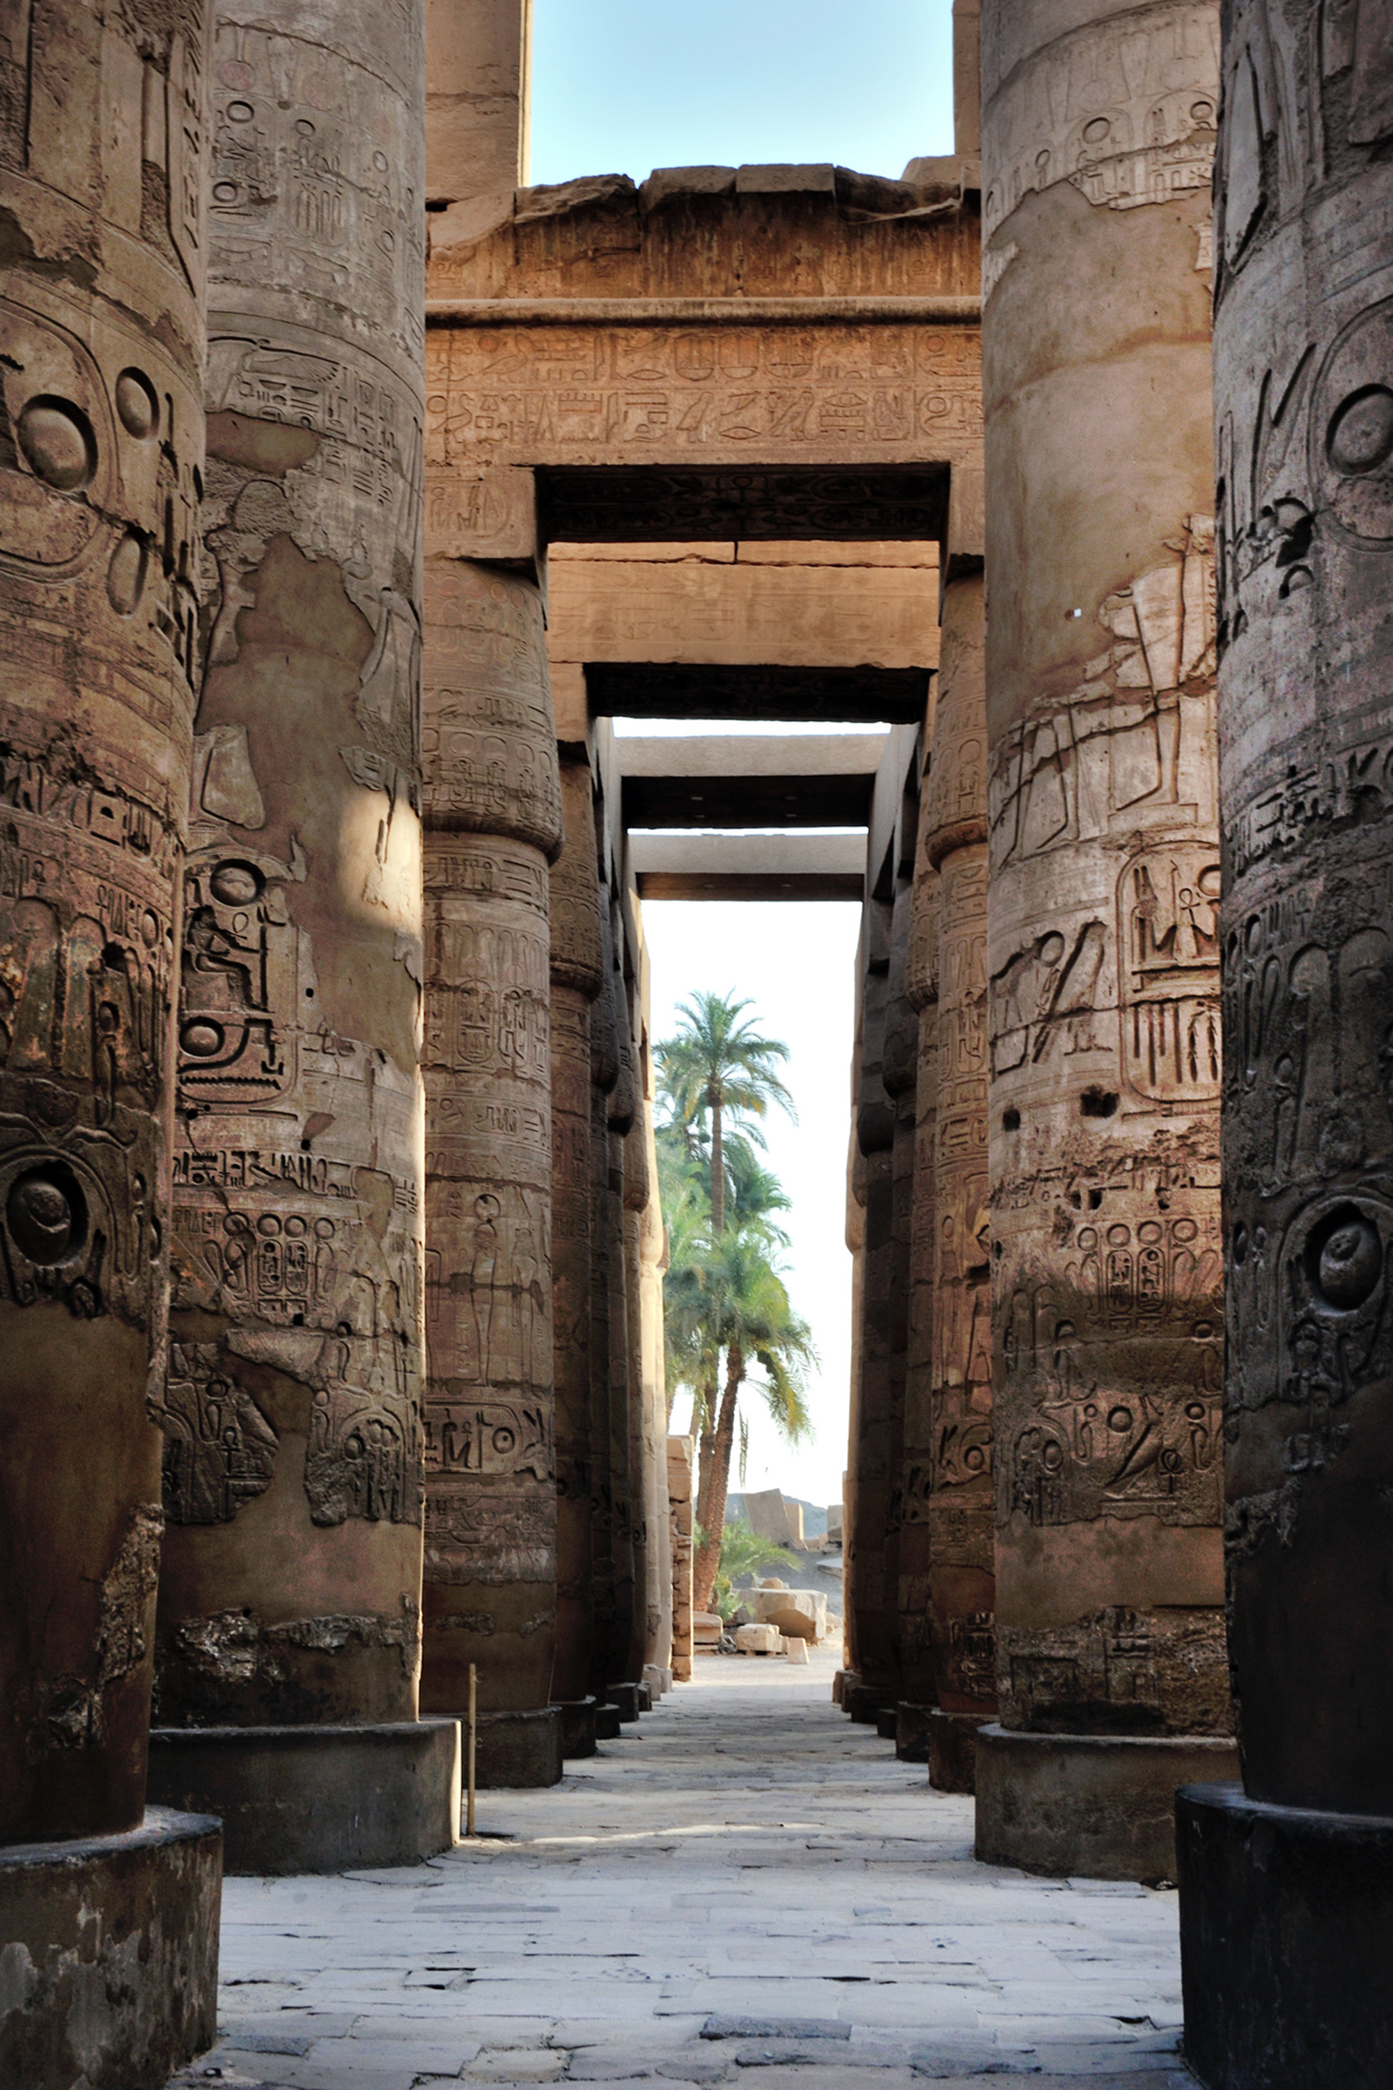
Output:
M1186 2059L1393 2069L1393 73L1383 8L1224 10L1215 431L1228 1645L1180 1799Z

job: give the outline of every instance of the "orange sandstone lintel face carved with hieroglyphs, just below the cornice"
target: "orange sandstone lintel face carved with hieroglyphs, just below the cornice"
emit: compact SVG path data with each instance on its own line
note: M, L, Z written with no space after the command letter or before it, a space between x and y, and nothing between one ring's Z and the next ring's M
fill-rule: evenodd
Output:
M975 334L950 326L489 326L426 336L434 466L969 458Z

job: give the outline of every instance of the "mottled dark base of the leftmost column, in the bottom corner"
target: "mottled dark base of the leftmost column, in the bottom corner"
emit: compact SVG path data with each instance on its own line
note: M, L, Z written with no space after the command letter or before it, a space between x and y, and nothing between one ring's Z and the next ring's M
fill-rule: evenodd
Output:
M127 1835L0 1850L0 2084L152 2090L217 2038L221 1835L148 1808Z

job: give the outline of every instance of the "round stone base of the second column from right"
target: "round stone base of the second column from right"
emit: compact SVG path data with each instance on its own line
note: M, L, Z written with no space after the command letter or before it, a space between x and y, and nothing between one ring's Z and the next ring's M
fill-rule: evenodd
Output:
M1055 1879L1176 1877L1176 1787L1232 1776L1222 1735L977 1728L977 1858Z

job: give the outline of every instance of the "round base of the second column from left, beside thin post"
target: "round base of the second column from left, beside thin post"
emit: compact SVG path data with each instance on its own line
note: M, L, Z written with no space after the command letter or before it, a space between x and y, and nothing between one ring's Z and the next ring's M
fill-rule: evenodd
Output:
M161 1726L148 1795L223 1822L228 1873L420 1864L459 1841L459 1722Z

